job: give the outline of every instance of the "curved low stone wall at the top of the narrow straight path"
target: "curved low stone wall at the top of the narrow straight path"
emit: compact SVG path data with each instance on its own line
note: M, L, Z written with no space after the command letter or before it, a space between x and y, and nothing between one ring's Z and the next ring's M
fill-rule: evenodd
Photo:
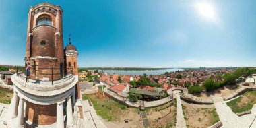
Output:
M189 94L187 88L181 88L181 87L174 87L167 90L167 93L169 96L172 96L172 90L180 90L182 92L181 99L187 100L189 102L194 102L196 104L214 104L214 100L212 98L200 98L197 96L193 96L192 94Z

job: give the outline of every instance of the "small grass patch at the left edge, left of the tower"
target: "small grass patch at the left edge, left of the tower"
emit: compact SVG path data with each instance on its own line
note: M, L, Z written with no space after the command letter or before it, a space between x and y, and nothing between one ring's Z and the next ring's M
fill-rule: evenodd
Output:
M3 104L11 104L11 98L13 97L13 91L0 87L0 102Z

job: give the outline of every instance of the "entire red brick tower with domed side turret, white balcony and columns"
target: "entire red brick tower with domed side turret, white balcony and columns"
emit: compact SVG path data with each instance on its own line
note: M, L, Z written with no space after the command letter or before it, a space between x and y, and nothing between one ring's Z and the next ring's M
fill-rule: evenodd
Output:
M73 46L69 44L64 55L62 17L61 7L51 3L40 3L28 12L24 60L25 67L30 63L31 73L30 76L16 73L11 77L14 93L8 127L73 125L75 92L79 92L77 50L69 49ZM65 66L64 57L71 66Z

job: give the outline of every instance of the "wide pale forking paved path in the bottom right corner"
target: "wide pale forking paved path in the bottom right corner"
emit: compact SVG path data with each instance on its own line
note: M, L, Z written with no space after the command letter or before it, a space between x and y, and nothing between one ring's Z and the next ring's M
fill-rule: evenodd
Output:
M228 100L230 101L230 100ZM235 113L232 112L231 108L226 105L226 102L223 101L223 98L214 98L214 106L217 110L217 113L220 117L220 121L222 121L223 126L222 128L230 128L230 127L236 127L236 128L245 128L245 127L256 127L256 107L254 106L251 110L251 114L249 115L243 115L241 117L238 117Z

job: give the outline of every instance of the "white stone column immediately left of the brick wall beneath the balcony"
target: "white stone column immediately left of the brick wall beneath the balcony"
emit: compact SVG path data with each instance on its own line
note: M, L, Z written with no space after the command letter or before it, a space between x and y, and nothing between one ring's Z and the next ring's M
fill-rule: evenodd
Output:
M20 98L18 116L17 116L18 127L23 127L23 119L24 119L24 99Z

